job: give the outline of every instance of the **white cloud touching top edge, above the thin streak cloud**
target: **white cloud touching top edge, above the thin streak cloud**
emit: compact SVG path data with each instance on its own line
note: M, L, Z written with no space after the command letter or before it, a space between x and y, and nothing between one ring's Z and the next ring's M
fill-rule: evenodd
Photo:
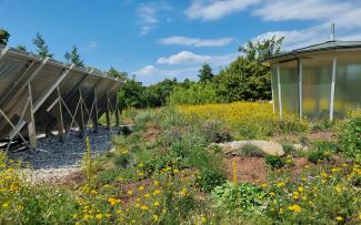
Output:
M245 10L260 0L194 0L187 9L190 19L217 20L230 13Z

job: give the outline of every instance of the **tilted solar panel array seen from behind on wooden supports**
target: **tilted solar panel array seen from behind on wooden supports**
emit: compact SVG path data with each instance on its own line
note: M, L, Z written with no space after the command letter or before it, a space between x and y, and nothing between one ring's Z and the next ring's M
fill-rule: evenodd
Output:
M117 91L122 82L106 73L0 47L0 140L18 139L36 147L37 134L71 129L84 134L113 112L119 125Z

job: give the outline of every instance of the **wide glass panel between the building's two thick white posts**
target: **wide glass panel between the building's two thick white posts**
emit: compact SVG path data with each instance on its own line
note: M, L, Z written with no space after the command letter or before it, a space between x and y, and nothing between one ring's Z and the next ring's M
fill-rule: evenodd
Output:
M330 54L302 59L302 114L328 117L330 112L332 60Z

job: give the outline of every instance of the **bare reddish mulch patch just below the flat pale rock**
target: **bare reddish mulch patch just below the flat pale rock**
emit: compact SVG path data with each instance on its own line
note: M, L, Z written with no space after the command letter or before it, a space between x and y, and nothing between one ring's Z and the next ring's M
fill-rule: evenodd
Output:
M233 160L235 161L237 178L240 182L265 183L267 166L262 157L234 156L224 160L227 178L233 181Z

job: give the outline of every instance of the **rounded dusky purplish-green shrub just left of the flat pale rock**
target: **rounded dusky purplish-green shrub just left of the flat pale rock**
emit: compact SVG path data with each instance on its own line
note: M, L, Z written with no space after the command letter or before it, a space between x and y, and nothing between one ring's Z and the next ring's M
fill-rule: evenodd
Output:
M208 142L229 142L232 140L230 131L219 121L205 121L202 124L202 133Z

